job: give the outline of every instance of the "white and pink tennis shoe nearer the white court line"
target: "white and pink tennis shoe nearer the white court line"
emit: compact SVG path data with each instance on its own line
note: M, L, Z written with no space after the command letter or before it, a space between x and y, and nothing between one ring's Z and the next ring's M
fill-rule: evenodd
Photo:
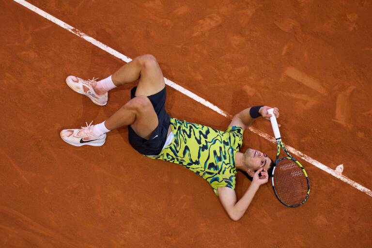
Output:
M106 92L103 95L99 95L94 91L94 86L97 84L98 78L84 80L75 76L68 76L66 78L67 85L75 92L83 94L91 98L92 102L99 106L107 104L109 94Z

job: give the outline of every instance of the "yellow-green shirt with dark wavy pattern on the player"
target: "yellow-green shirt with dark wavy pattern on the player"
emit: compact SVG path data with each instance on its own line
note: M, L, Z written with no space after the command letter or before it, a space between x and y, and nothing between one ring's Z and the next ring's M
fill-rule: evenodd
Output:
M159 155L149 156L185 166L212 186L235 188L235 154L242 146L243 129L219 131L209 126L171 118L174 140Z

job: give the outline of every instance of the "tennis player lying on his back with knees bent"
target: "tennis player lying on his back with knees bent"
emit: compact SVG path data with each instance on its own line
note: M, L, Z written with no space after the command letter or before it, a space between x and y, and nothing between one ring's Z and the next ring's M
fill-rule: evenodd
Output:
M233 220L240 219L258 188L267 183L268 171L273 166L272 160L260 151L239 152L243 131L254 118L262 115L269 119L271 115L267 109L271 107L256 106L241 111L233 117L226 131L172 118L165 110L163 74L152 55L137 57L100 81L69 76L66 83L75 92L103 106L109 90L137 79L140 81L130 92L131 100L109 119L81 129L62 130L62 140L74 146L101 146L107 132L127 125L129 143L140 154L183 165L202 176L219 196L228 215ZM278 109L274 114L279 117ZM237 169L253 178L239 201L234 191Z

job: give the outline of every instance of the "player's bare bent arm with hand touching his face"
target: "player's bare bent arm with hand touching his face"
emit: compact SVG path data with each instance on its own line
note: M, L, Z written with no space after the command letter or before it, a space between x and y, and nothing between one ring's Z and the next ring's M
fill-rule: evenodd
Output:
M259 176L260 172L261 176ZM232 220L237 221L244 215L258 188L267 183L268 178L269 176L265 169L261 168L260 170L256 171L253 175L252 183L239 201L237 201L235 190L232 188L217 188L219 201Z

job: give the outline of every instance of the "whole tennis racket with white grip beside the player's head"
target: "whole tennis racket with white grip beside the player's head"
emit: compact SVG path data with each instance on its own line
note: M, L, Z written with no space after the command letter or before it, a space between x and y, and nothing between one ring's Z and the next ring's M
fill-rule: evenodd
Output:
M288 207L298 207L306 202L310 193L309 177L305 169L285 148L281 141L274 109L268 109L270 122L277 140L277 157L271 174L271 184L279 202ZM281 149L280 149L281 148ZM280 150L286 154L279 158Z

